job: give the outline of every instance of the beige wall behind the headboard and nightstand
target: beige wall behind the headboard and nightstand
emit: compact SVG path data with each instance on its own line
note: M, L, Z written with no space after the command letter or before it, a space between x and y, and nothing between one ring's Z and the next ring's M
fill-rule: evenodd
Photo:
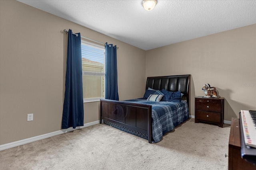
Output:
M225 98L224 120L256 109L256 24L146 51L146 77L179 74L191 74L191 115L206 83Z

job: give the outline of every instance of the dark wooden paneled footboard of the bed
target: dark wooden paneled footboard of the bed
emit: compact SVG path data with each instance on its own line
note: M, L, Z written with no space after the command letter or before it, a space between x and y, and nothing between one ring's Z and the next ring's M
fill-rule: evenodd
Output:
M100 100L102 119L148 135L152 143L152 106L115 100Z

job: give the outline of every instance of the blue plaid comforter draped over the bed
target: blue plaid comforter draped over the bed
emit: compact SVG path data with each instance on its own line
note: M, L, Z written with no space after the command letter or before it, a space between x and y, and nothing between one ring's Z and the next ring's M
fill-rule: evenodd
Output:
M159 142L165 133L172 131L175 126L189 118L188 104L183 100L153 102L138 98L124 102L152 105L152 137L155 143Z

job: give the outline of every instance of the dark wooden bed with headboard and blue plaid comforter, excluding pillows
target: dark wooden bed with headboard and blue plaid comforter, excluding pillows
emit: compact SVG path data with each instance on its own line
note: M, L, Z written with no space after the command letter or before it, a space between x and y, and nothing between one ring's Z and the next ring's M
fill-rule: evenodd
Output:
M190 74L177 76L148 77L148 90L180 92L178 101L148 101L138 98L126 101L100 100L100 123L142 137L148 143L156 143L162 136L189 118ZM147 96L146 96L147 97ZM162 113L161 110L165 110Z

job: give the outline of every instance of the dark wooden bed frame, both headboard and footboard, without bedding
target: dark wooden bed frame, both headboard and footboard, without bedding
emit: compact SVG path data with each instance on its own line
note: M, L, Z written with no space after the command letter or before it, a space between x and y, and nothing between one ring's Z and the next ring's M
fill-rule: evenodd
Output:
M183 93L182 100L189 105L190 74L178 76L148 77L146 89L162 90L163 88ZM152 143L152 106L134 104L115 100L100 100L100 123L108 121L122 127L148 135Z

